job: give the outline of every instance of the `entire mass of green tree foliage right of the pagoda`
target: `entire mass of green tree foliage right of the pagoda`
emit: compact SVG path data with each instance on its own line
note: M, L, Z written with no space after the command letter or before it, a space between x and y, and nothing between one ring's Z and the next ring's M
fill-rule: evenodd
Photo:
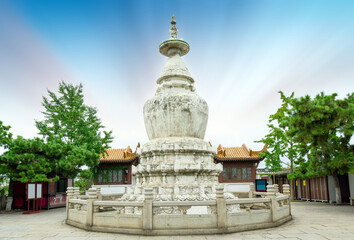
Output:
M269 144L263 153L267 166L277 170L280 157L294 160L296 168L289 179L332 175L337 203L341 202L338 175L354 173L354 94L337 99L337 94L320 93L286 97L282 106L270 116L270 132L260 142ZM277 123L274 125L273 122Z

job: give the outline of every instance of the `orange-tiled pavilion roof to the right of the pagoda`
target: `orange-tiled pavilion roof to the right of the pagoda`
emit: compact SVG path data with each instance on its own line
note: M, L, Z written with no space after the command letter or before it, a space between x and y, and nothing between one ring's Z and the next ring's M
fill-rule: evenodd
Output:
M265 151L267 146L266 144L262 150L253 151L248 149L245 144L241 147L223 147L220 144L215 159L219 161L261 161L263 158L259 156L259 153Z

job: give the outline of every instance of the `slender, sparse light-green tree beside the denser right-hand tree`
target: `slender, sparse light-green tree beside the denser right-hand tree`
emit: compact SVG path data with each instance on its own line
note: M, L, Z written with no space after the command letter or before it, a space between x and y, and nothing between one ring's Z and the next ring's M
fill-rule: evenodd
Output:
M267 124L269 133L257 142L268 144L267 150L260 154L265 157L268 170L273 173L282 170L282 159L287 158L290 160L290 173L292 173L294 159L299 155L299 144L294 141L295 131L289 127L289 122L293 117L290 102L294 98L294 93L289 97L281 91L279 93L282 105L269 117L269 124ZM293 194L293 181L290 181L290 185L291 194Z

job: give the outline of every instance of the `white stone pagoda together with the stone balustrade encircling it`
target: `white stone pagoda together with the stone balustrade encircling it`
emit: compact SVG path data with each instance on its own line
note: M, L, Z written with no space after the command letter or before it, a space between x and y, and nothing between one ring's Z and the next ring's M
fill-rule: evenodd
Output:
M255 198L250 187L248 198L240 199L219 185L222 166L214 163L216 151L203 140L208 105L196 94L181 58L189 45L177 39L174 17L171 24L170 39L160 44L167 63L155 96L144 106L149 142L133 169L136 185L122 197L105 196L100 188L81 196L79 188L68 187L66 223L89 231L191 235L275 227L291 220L289 185L287 195L268 185L263 197Z

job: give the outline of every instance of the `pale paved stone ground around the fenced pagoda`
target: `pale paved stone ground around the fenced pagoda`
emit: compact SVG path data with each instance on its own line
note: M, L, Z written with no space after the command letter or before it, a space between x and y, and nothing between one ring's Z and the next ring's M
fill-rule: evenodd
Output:
M64 223L65 208L38 214L0 214L0 239L354 239L354 207L293 202L293 218L282 226L225 235L146 237L87 232Z

